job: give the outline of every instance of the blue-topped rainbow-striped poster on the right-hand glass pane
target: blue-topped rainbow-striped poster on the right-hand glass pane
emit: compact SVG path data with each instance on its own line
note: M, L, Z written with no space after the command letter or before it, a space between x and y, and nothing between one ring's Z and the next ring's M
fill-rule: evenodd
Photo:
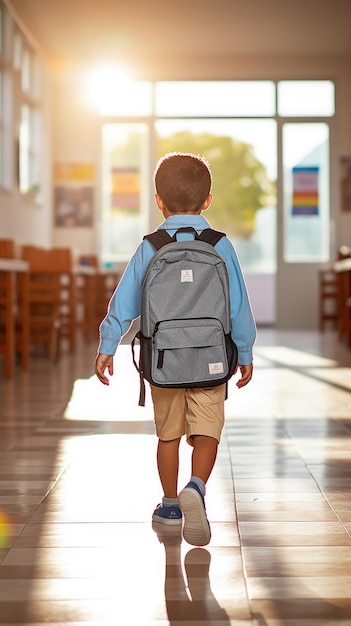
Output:
M294 167L292 215L319 214L319 167Z

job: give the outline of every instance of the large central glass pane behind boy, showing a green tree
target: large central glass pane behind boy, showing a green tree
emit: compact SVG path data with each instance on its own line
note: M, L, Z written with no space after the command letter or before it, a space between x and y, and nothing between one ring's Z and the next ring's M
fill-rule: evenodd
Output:
M158 156L205 156L213 200L205 217L233 242L259 324L275 322L277 129L273 119L160 119Z

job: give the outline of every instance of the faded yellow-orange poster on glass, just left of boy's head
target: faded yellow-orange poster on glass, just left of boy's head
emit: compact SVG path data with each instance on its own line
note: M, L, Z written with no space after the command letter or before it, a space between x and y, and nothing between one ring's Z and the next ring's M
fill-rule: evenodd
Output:
M137 211L140 204L140 172L137 167L113 167L111 172L111 207Z

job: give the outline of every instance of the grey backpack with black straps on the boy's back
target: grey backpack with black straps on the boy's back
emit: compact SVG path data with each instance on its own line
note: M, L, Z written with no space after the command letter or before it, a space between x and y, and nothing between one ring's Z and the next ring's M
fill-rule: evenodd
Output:
M191 232L194 240L177 241L179 232ZM141 406L144 379L156 387L214 387L234 373L238 353L231 337L227 268L214 249L224 236L211 228L198 235L190 227L173 237L162 229L144 237L157 252L144 278L140 330L132 341Z

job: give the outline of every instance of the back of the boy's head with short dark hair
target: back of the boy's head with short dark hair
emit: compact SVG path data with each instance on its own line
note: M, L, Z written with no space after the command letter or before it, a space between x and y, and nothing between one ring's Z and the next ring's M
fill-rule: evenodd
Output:
M204 203L211 193L211 171L203 157L166 154L156 165L154 180L156 193L169 213L200 213L207 208Z

